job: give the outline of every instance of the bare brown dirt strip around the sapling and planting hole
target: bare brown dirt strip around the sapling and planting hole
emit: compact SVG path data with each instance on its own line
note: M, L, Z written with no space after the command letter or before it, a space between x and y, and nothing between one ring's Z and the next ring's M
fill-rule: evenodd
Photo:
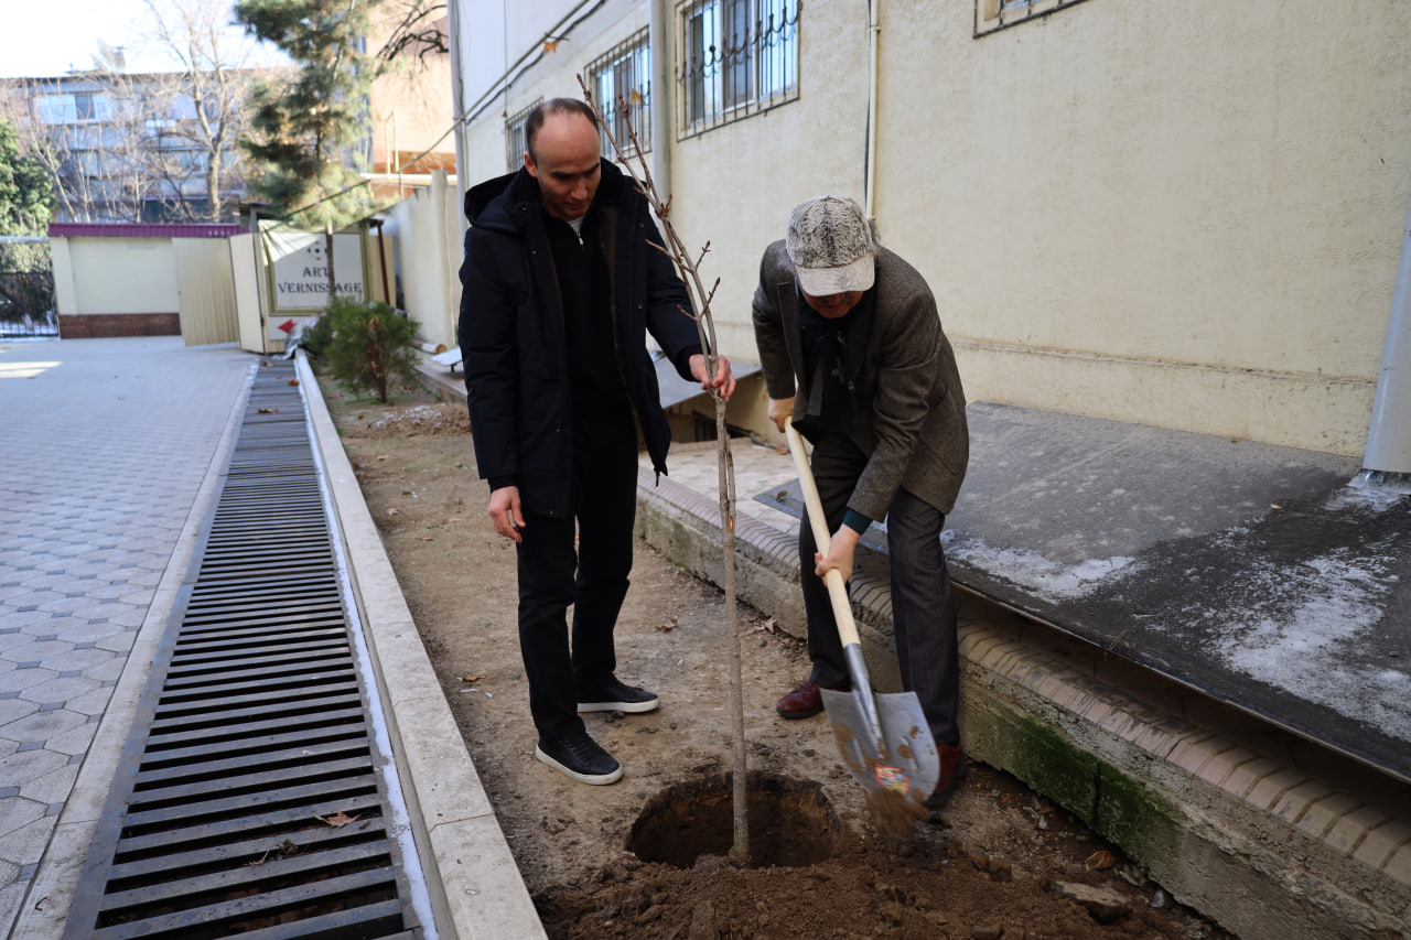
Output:
M350 402L327 387L325 395L550 937L1229 937L1065 812L983 765L972 765L944 821L879 837L827 720L782 721L773 711L807 675L803 642L745 605L749 771L792 781L820 803L803 824L766 824L752 838L756 855L773 854L765 865L728 864L728 821L700 831L728 816L708 796L731 769L724 601L642 543L619 618L618 675L659 692L662 709L587 716L626 769L619 783L583 786L550 771L533 759L515 555L485 515L464 408ZM701 799L715 807L693 802ZM629 851L653 857L634 843L652 824L655 845L690 843L690 851L667 861ZM1116 899L1085 906L1065 884Z

